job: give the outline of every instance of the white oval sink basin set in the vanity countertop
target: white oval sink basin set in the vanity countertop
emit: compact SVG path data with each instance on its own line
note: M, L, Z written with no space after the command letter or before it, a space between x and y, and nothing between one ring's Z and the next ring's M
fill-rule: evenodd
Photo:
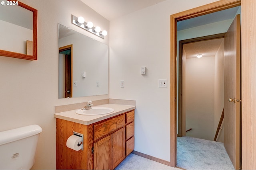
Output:
M88 110L77 110L76 113L79 115L104 115L113 112L114 109L109 107L92 107Z

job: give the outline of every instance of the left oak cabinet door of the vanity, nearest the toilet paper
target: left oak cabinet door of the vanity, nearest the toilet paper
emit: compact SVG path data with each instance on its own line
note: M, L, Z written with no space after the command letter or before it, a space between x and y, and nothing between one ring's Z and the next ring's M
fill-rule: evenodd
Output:
M111 168L111 146L111 135L94 143L94 169L105 170Z

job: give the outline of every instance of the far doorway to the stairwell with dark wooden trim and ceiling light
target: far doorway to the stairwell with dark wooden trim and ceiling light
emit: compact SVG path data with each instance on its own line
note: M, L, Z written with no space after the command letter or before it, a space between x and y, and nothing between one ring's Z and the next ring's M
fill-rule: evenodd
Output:
M220 45L224 46L224 35L225 33L219 33L215 35L208 35L179 41L178 137L182 137L187 134L188 136L192 137L198 137L211 141L214 140L216 126L218 125L218 122L216 125L215 121L217 120L215 119L219 119L221 115L221 111L219 111L220 113L216 113L218 112L216 110L222 110L224 106L224 102L221 102L223 101L223 99L220 99L220 96L218 96L218 93L221 92L214 93L215 90L222 90L222 92L224 90L224 69L221 68L220 70L220 67L218 66L219 64L223 64L224 62L224 51L220 52L223 54L218 53L218 56L216 57L215 55L216 51L219 50ZM186 47L186 50L184 50L183 53L184 47ZM204 57L202 58L203 60L197 59L196 54L202 54ZM187 67L190 69L186 70L186 61L196 62L196 68L194 68L195 66L193 65L192 68L190 66ZM206 64L208 64L208 66L206 66ZM221 72L214 71L217 69ZM185 76L186 72L188 72L190 76ZM211 76L208 76L208 74L210 74ZM185 83L185 80L188 80L188 82ZM214 85L214 82L218 84ZM186 84L188 84L188 86L186 86ZM202 84L204 85L202 86ZM219 84L222 84L222 86L220 86ZM198 93L196 93L196 90L198 91ZM204 92L202 92L202 90L204 90ZM188 96L186 96L186 92L189 92ZM200 104L196 102L198 101L196 100L196 98L198 98L198 100L201 100ZM205 100L206 98L208 98L208 100ZM189 102L189 105L185 104L186 101ZM221 105L222 108L215 108L215 104ZM212 109L210 109L211 107ZM185 111L186 108L188 110L194 111L191 111L191 114L188 115ZM188 116L190 116L190 118L188 118ZM200 119L198 119L198 117ZM186 122L186 120L190 121ZM208 131L206 131L207 129Z

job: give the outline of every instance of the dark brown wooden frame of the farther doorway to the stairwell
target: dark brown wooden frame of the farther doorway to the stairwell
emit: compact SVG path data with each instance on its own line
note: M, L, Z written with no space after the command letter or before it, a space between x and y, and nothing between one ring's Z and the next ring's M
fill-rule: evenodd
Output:
M212 39L219 39L219 38L224 38L225 33L218 33L218 34L214 34L214 35L207 35L207 36L203 36L203 37L196 37L196 38L191 38L191 39L185 39L185 40L180 40L179 41L179 65L178 65L178 70L179 70L179 83L178 83L178 137L182 137L183 135L183 129L182 129L182 125L183 125L183 112L182 112L182 105L183 105L183 98L182 98L182 87L183 87L183 61L182 61L182 56L183 56L183 45L184 44L188 44L188 43L196 43L199 41L207 41L207 40L212 40Z

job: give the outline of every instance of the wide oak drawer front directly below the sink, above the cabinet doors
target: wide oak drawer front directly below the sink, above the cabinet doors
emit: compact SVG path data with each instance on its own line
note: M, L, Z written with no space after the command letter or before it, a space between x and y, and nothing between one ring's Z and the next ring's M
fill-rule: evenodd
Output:
M108 135L112 131L115 131L116 129L123 127L124 125L125 125L124 114L122 114L118 117L109 119L107 121L103 121L102 123L98 123L93 126L94 140L99 139L100 137L103 137L104 135Z

